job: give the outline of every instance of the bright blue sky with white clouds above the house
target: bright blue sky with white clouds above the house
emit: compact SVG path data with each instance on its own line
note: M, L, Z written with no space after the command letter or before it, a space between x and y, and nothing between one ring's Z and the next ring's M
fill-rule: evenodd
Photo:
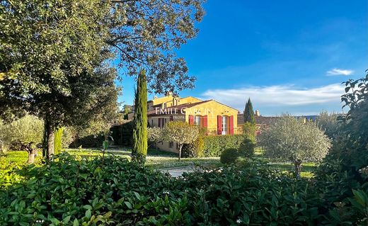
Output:
M340 112L340 83L368 69L367 0L209 0L205 10L177 51L197 77L180 96L240 111L250 97L262 115ZM120 101L132 104L134 78L123 78Z

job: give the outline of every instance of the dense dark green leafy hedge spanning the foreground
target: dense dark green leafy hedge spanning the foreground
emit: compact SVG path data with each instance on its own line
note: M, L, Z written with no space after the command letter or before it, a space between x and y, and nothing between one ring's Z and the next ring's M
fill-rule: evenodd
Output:
M338 181L292 179L260 162L174 179L120 157L56 158L0 190L1 225L347 225L367 213L364 188L333 204L321 189Z

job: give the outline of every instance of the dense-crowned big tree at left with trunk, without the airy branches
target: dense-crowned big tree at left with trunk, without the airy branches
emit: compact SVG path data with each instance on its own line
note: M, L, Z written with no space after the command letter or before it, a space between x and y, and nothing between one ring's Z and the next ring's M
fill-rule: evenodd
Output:
M104 63L109 11L96 0L0 3L0 113L21 109L43 118L47 158L56 128L88 121L105 94L116 96L116 73Z

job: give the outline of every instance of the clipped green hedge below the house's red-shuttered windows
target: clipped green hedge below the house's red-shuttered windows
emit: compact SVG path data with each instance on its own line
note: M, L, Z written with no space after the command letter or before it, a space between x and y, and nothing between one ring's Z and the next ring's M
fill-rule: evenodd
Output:
M219 157L225 149L239 149L246 140L245 135L218 135L204 137L204 157Z

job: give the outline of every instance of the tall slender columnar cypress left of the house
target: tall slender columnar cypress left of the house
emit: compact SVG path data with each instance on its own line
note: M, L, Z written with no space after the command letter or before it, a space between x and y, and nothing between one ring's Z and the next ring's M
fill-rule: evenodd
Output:
M147 155L147 81L144 69L137 79L134 105L132 157L140 159Z

